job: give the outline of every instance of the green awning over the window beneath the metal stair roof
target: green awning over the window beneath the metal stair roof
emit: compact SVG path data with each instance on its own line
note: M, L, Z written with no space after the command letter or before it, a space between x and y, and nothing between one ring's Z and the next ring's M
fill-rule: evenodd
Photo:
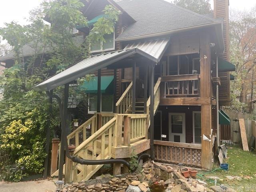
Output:
M101 93L113 93L113 80L114 76L102 76L100 83ZM98 77L92 78L89 82L84 81L80 85L81 90L85 93L97 93L98 91Z

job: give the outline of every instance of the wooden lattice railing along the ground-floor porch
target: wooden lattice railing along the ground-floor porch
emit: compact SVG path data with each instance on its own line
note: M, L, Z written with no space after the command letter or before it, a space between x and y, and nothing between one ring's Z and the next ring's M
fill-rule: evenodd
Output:
M155 159L170 163L202 166L202 145L169 141L154 141Z

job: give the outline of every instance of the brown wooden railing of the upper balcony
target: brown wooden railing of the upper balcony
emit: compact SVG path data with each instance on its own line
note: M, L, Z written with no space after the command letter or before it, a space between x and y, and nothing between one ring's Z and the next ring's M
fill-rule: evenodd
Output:
M162 96L199 97L200 78L198 74L162 76Z

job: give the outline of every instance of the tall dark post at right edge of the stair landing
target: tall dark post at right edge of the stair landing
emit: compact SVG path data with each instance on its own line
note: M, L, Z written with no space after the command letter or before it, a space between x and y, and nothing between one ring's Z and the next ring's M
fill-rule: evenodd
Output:
M150 66L150 156L154 160L154 64Z

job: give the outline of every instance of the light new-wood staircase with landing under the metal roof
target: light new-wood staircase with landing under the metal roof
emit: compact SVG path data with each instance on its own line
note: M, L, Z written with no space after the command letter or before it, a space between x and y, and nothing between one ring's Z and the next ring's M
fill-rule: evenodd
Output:
M159 84L155 85L154 113L159 104ZM136 101L136 113L128 114L132 106L132 83L116 103L117 113L95 113L95 115L67 136L68 145L75 149L72 156L85 160L106 160L110 158L129 158L150 148L148 140L150 98L147 102L147 114L144 102ZM91 136L86 138L90 128ZM59 144L59 151L60 151ZM81 165L66 158L63 173L66 182L80 182L90 179L103 165ZM58 170L52 174L58 176Z

